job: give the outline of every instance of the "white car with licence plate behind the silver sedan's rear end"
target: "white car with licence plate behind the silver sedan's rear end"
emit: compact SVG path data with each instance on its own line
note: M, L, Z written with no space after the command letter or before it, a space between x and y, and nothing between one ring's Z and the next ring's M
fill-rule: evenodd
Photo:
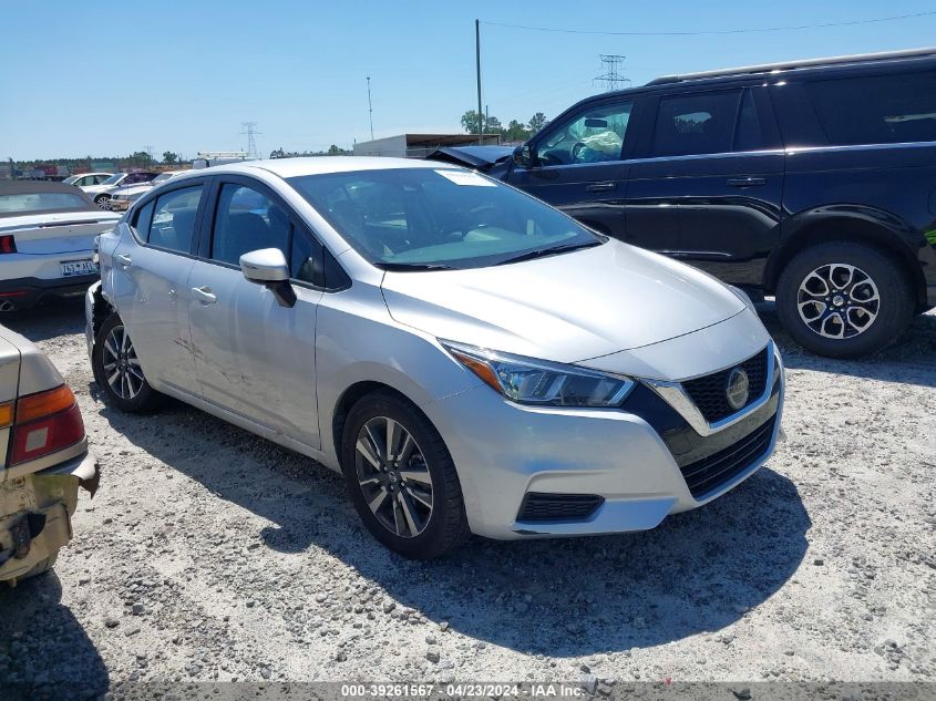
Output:
M0 311L83 293L97 279L94 237L119 220L72 185L0 182Z

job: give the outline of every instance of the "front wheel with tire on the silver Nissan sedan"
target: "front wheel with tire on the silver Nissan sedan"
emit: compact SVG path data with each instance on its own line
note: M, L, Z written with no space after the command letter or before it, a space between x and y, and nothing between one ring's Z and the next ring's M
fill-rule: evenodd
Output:
M401 396L376 392L351 408L341 468L364 526L391 550L429 559L469 537L452 456L435 427Z

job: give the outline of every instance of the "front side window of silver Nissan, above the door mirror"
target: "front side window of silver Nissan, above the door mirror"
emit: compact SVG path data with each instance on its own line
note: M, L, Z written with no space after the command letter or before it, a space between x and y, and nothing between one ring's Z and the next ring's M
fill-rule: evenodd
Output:
M289 255L289 217L263 193L244 185L222 186L212 235L212 258L235 266L260 248Z

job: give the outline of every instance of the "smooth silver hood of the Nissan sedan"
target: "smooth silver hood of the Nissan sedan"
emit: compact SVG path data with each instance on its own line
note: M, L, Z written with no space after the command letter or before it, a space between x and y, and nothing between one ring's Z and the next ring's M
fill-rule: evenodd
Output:
M400 323L556 362L659 343L745 309L704 272L616 240L488 268L387 272L382 289Z

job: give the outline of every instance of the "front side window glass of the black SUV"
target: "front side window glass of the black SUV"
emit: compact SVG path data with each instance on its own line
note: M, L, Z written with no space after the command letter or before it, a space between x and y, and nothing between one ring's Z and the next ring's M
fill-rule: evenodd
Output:
M616 102L590 107L551 128L536 145L541 166L619 161L634 103Z

